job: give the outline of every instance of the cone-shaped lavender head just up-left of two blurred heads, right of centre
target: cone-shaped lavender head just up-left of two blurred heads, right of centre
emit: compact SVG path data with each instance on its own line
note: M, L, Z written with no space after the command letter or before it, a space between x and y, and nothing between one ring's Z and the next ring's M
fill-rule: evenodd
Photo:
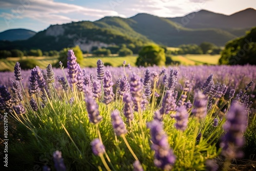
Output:
M173 93L170 90L166 91L165 96L163 97L162 107L160 109L160 114L169 114L170 111L176 111L177 105L176 100L173 96Z

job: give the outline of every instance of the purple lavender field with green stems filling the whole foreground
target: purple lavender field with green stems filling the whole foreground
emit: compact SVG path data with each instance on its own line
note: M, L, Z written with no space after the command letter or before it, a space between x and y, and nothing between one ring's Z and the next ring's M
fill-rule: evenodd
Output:
M255 168L255 66L61 66L0 73L12 170Z

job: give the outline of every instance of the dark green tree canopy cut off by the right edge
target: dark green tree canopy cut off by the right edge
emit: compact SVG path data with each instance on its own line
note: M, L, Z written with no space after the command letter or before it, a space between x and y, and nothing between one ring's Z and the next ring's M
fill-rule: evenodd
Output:
M256 65L256 27L243 37L227 42L219 59L225 65Z

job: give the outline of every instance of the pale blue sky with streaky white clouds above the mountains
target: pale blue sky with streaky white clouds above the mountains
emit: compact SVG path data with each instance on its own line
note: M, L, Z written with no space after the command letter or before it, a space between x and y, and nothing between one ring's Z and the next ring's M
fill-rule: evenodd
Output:
M131 17L148 13L160 17L184 16L206 9L230 15L256 9L255 0L1 0L0 32L24 28L42 31L50 25L95 21L104 16Z

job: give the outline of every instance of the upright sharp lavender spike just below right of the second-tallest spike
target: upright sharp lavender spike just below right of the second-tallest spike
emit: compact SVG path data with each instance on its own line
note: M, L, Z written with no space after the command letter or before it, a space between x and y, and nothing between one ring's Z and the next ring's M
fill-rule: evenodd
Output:
M104 103L109 104L114 100L115 94L113 93L113 81L112 75L109 70L106 70L104 79L103 79L103 88L104 88Z

